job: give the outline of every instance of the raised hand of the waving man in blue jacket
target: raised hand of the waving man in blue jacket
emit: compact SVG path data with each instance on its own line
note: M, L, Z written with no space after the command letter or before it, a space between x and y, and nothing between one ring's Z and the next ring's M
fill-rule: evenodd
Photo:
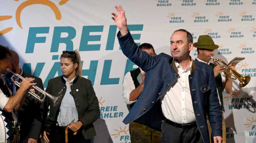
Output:
M116 26L120 29L121 36L124 36L125 34L128 33L125 13L121 5L115 6L115 8L116 8L117 14L111 13L114 16L112 17L112 19L115 21Z

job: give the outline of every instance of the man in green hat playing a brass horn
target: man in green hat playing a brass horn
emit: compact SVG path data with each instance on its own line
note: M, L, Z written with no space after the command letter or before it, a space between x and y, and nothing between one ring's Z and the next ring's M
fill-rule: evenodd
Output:
M214 77L216 80L216 86L218 91L218 98L221 104L222 109L222 143L226 143L226 125L225 120L223 117L224 107L223 107L223 98L222 98L222 91L225 89L225 92L228 94L232 93L232 79L226 78L224 75L224 67L222 65L215 65L213 63L210 63L210 60L214 56L214 50L218 49L218 45L214 44L212 37L209 35L201 35L199 36L196 43L193 44L194 47L197 47L197 53L198 56L195 60L201 61L203 63L209 64L213 67L214 71ZM229 69L235 70L235 66L229 66ZM209 135L210 138L212 138L212 130L209 123L209 120L207 120L208 123L208 129L209 129ZM212 139L210 139L210 142L213 142Z

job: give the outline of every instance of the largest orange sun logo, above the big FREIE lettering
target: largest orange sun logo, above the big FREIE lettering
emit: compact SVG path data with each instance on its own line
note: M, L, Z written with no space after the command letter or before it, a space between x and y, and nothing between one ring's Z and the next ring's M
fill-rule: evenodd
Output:
M18 0L14 0L14 1L18 1ZM59 2L59 5L64 5L65 3L67 3L69 0L61 0ZM55 14L55 18L57 20L60 20L61 19L61 13L60 13L60 10L59 8L57 8L57 6L50 0L26 0L24 1L23 3L21 3L18 8L16 9L16 14L15 14L15 18L16 18L16 23L17 25L22 29L22 25L21 25L21 12L24 8L26 8L27 6L30 6L30 5L34 5L34 4L42 4L42 5L46 5L46 6L49 6L52 11L54 11L54 14ZM3 20L8 20L8 19L11 19L12 16L11 15L3 15L3 16L0 16L0 21L3 21ZM13 27L8 27L8 28L5 28L3 30L0 31L0 36L5 34L5 33L8 33L10 31L12 31Z

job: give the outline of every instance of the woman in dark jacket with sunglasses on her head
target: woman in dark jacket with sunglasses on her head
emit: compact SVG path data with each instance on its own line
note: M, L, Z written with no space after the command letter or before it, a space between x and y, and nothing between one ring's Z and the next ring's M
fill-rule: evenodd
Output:
M60 66L63 75L50 79L46 88L46 92L59 99L53 103L47 98L50 114L46 118L44 140L47 143L64 143L68 126L69 142L89 143L90 138L96 135L93 122L100 114L98 98L91 81L81 77L78 51L63 51Z

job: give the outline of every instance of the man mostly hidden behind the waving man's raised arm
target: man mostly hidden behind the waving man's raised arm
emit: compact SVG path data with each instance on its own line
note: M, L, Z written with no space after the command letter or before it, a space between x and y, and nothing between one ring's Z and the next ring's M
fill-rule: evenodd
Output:
M143 43L139 48L141 51L147 52L150 56L156 55L154 47L149 43ZM145 75L146 73L144 71L137 68L124 76L123 97L125 103L129 106L129 110L140 97L144 88ZM129 132L131 135L131 143L161 143L161 132L141 124L139 121L135 120L129 124Z

